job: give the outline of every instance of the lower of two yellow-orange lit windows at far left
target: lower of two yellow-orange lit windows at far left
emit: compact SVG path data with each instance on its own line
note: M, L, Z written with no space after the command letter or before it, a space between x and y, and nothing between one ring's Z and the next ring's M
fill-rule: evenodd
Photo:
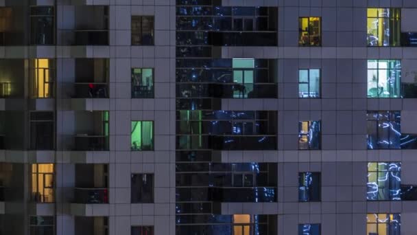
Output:
M32 164L32 201L52 203L53 164Z

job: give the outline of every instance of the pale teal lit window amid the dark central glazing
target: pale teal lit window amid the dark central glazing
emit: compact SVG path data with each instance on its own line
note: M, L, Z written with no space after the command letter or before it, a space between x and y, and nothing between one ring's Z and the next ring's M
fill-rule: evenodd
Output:
M248 98L254 88L254 59L233 59L233 98Z

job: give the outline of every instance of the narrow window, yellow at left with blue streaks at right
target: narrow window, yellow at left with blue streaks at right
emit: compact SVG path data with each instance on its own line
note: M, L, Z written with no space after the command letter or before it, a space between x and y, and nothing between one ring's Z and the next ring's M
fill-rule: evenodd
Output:
M317 150L321 148L321 122L298 122L298 149Z

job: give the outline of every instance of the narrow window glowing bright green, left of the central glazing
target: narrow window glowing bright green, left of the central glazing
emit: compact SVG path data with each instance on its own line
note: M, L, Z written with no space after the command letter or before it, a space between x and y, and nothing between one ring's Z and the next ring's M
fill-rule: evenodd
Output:
M154 122L132 121L132 150L154 150Z

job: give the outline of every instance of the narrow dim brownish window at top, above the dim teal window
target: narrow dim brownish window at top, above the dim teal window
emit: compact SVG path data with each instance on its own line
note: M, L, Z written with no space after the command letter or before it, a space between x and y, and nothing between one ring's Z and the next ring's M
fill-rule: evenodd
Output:
M154 45L154 16L132 16L132 45Z

